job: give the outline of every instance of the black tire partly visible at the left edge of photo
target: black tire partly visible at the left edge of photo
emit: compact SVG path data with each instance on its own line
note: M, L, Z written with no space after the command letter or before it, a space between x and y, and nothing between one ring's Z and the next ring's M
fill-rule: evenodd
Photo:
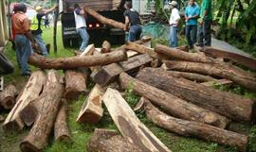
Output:
M7 59L2 52L0 52L0 75L6 75L12 73L14 67L12 63Z

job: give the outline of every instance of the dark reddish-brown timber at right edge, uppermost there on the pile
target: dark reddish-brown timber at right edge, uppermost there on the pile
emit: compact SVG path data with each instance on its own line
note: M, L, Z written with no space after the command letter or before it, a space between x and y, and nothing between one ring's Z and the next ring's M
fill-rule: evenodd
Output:
M207 56L210 56L213 58L230 59L239 64L246 66L249 69L256 70L256 60L255 59L251 59L251 58L248 58L248 57L240 55L240 54L227 52L227 51L220 50L220 49L213 48L213 47L205 47L201 51L203 51Z

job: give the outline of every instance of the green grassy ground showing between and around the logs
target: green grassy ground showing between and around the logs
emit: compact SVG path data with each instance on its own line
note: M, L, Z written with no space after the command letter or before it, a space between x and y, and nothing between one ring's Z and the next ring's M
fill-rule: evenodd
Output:
M60 29L60 28L59 28ZM44 39L46 42L52 43L52 29L46 29L44 31ZM50 58L56 57L68 57L72 56L71 49L64 49L62 39L61 39L61 32L58 31L58 53L55 55L53 54L53 50L51 49ZM184 39L180 38L180 43L184 43ZM155 40L154 43L166 43L166 40ZM51 46L53 46L51 44ZM51 47L53 48L53 47ZM19 89L25 85L27 78L20 76L20 69L16 68L17 64L15 62L15 54L12 50L10 50L10 44L7 47L6 54L8 58L14 63L15 65L15 72L9 76L5 76L6 83L14 83L18 86ZM32 67L31 69L34 71L37 68ZM89 84L89 88L92 88L93 84ZM233 89L228 89L225 87L218 87L224 91L230 91L233 93L239 93L245 96L256 98L255 93L250 93L248 91L244 91L243 89L239 89L239 87L234 87ZM125 99L134 107L137 103L139 97L132 92L132 90L127 90L125 92ZM101 122L95 126L89 125L81 125L75 122L78 112L82 107L82 103L86 98L86 94L80 96L77 100L72 100L68 102L68 126L70 128L70 132L72 134L72 141L70 143L55 143L53 141L53 136L50 136L49 144L46 146L46 152L86 152L86 144L91 137L94 128L101 127L101 128L114 128L117 129L115 124L113 123L109 113L107 110L104 110L104 116L101 119ZM105 108L104 108L105 109ZM7 115L6 112L5 115ZM143 122L147 127L149 127L153 133L170 149L174 152L236 152L236 148L223 146L213 143L203 142L196 138L184 138L181 136L177 136L165 129L160 127L155 127L153 123L146 119L145 114L143 111L137 111L137 117ZM2 128L2 127L1 127ZM0 128L0 152L19 152L19 144L23 138L26 137L29 128L25 128L24 131L21 133L10 133L5 134ZM232 125L230 128L242 131L247 133L251 130L250 135L256 134L256 127L251 128L249 125L244 124L235 124ZM251 144L252 145L252 144ZM250 148L252 149L252 148Z

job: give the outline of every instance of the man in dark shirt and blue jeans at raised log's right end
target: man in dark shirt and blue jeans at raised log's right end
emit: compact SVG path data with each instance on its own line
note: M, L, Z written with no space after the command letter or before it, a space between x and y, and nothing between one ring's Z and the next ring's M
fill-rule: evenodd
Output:
M140 39L140 34L142 32L139 14L135 9L133 9L131 1L126 1L124 8L126 10L123 14L125 17L125 25L123 30L129 30L128 41L135 42Z

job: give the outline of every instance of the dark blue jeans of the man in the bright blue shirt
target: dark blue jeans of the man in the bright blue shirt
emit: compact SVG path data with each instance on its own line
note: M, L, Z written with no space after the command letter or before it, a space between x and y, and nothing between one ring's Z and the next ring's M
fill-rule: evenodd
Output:
M186 25L186 37L191 47L196 42L196 33L197 33L197 25Z

